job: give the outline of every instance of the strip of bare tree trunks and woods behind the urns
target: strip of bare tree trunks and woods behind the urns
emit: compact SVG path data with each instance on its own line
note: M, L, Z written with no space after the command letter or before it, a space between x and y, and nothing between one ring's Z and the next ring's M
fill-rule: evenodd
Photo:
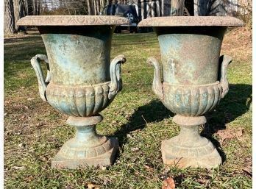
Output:
M138 17L182 15L248 15L252 0L4 0L4 34L24 30L16 26L25 15L99 15L109 4L133 4Z

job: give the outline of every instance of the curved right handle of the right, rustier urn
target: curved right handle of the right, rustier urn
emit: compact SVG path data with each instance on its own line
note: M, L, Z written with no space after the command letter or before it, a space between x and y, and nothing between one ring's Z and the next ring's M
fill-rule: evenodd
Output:
M221 98L224 98L226 96L227 92L229 91L229 82L227 80L227 65L229 65L232 62L232 58L227 55L222 55L219 58L219 64L221 65L220 68L220 75L221 75L221 87L222 87L222 93Z

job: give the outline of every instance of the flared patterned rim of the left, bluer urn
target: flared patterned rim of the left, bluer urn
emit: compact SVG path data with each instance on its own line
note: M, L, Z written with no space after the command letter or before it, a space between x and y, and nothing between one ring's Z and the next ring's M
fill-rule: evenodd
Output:
M18 26L102 26L125 25L129 20L114 15L27 15Z

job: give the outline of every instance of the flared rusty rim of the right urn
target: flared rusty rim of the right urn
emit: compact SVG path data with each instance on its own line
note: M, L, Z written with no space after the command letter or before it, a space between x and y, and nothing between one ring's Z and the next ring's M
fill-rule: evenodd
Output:
M146 18L138 26L244 26L244 23L231 16L165 16Z

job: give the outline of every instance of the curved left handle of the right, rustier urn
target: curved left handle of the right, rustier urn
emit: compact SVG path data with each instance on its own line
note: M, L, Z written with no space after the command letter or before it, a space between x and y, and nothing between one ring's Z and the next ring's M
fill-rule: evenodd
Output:
M146 62L150 65L154 65L154 80L152 90L160 98L160 100L163 100L163 84L161 82L160 64L154 57L149 57Z

